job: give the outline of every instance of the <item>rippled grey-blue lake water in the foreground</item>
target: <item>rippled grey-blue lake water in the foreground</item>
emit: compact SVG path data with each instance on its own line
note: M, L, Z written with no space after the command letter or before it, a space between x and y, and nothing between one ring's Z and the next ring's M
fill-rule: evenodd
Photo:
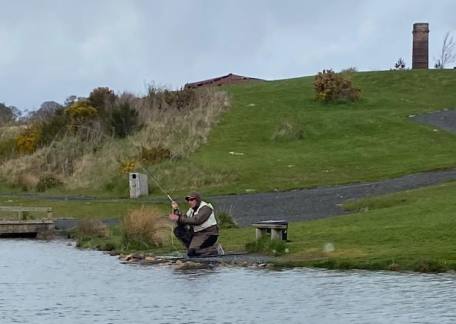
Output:
M0 241L0 323L455 323L456 276L123 265Z

